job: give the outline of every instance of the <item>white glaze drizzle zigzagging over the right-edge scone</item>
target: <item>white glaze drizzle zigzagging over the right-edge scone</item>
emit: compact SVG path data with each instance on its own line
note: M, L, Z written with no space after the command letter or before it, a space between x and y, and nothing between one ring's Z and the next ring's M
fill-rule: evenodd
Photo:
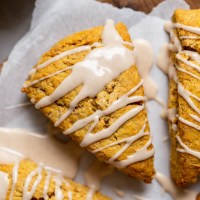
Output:
M190 26L186 26L186 25L183 25L183 24L179 24L179 23L175 23L173 24L172 22L167 22L165 24L165 30L167 32L169 32L170 34L170 37L171 37L171 40L172 40L172 43L173 44L169 44L168 45L168 49L170 49L171 51L174 51L174 52L178 52L176 54L176 58L183 62L185 65L195 69L196 71L200 72L200 66L196 63L193 63L189 60L187 60L186 58L184 58L182 56L183 55L186 55L186 56L189 56L193 61L196 61L197 63L200 63L200 55L197 53L197 52L192 52L192 51L188 51L188 50L183 50L182 51L182 47L181 47L181 43L179 41L179 38L178 36L176 35L175 33L175 28L181 28L183 30L186 30L186 31L189 31L191 33L195 33L195 34L200 34L200 28L198 27L190 27ZM186 36L186 37L182 37L180 39L189 39L189 36ZM167 50L167 47L166 47L166 50ZM164 55L164 54L163 54ZM167 54L166 54L167 55ZM165 55L164 55L165 56ZM169 56L168 56L169 57ZM168 64L168 69L173 69L172 71L174 71L174 69L176 68L177 70L181 71L181 72L184 72L184 73L187 73L189 75L191 75L192 77L200 80L200 77L191 73L191 72L188 72L187 70L185 69L182 69L182 68L179 68L178 66L173 66L171 64ZM173 73L175 74L175 73ZM196 111L198 114L200 114L200 109L198 109L198 107L194 104L194 102L191 100L191 97L193 97L194 99L196 99L197 101L200 101L200 98L197 97L196 95L192 94L191 92L189 92L187 89L185 89L179 82L178 82L178 78L177 76L173 76L173 77L170 77L172 78L175 83L178 85L178 94L190 105L190 107ZM200 119L198 116L196 115L192 115L192 114L189 114L190 117L192 117L195 121L197 122L200 122ZM193 122L190 122L180 116L178 116L178 120L181 121L182 123L192 127L192 128L195 128L197 130L200 130L200 126L198 126L197 124L194 124ZM176 126L175 124L172 123L172 128ZM174 131L177 131L177 126L175 128L173 128ZM177 151L179 152L182 152L182 153L189 153L195 157L198 158L198 155L199 155L199 152L198 151L194 151L192 149L190 149L189 147L187 147L181 140L181 138L179 136L176 137L179 144L182 146L183 149L177 149Z

